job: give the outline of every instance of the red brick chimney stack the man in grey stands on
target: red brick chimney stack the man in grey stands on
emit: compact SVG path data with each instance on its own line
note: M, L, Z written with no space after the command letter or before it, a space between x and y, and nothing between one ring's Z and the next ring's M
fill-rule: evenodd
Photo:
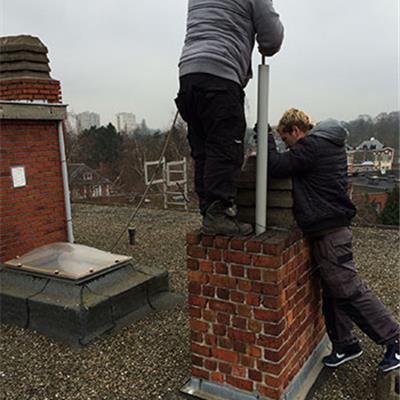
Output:
M325 334L298 231L187 235L192 376L280 399Z

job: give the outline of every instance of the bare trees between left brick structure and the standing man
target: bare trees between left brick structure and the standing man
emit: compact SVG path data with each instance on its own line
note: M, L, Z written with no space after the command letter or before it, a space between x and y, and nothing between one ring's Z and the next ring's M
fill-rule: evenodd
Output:
M119 192L143 192L145 161L158 161L169 131L148 133L138 127L132 134L117 132L113 124L92 127L79 135L66 133L68 163L84 163L110 179ZM193 171L190 149L186 140L187 128L178 119L165 153L166 161L186 157L189 174Z

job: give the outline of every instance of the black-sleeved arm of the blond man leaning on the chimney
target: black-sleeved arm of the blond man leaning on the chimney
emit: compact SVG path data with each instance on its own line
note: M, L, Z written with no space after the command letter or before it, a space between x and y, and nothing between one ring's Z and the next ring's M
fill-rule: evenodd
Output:
M268 135L268 174L273 178L302 175L314 166L316 154L314 140L299 140L289 151L278 153L273 136Z

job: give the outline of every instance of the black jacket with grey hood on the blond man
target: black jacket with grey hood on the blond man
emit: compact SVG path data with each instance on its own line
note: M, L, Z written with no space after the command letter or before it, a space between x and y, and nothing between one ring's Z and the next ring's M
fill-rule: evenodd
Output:
M306 234L348 226L356 214L347 194L347 134L340 122L326 120L284 153L270 135L269 174L293 178L294 216Z

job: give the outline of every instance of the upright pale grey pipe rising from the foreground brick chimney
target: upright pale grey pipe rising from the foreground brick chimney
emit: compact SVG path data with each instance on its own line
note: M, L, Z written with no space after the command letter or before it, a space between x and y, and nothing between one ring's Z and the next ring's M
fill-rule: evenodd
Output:
M268 93L269 65L265 57L258 67L258 121L257 121L257 181L256 181L256 234L267 227L267 168L268 168Z

